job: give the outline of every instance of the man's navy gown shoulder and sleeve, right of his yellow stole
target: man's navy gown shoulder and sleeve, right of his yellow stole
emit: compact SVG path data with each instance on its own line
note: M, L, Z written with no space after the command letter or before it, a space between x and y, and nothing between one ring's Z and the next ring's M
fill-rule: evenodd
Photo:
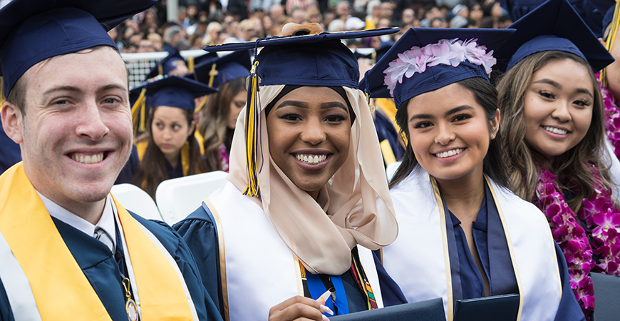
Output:
M153 235L160 240L162 245L168 250L172 258L175 258L177 265L187 284L187 290L192 295L192 300L196 306L196 312L200 320L222 320L222 315L215 305L215 300L202 285L202 277L198 269L192 251L185 243L185 240L169 225L158 220L147 220L131 213L133 217L148 228ZM211 271L213 272L213 271Z

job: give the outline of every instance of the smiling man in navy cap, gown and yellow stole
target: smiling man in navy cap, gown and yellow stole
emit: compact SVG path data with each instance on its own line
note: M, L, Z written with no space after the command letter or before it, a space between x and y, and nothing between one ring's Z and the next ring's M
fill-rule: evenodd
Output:
M221 320L190 250L110 189L132 127L106 29L155 1L15 0L0 9L0 320Z

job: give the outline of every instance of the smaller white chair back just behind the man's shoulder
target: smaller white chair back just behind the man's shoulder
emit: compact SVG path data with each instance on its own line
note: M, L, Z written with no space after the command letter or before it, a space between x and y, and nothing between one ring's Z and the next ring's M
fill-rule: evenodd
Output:
M118 184L112 186L111 193L126 210L149 220L162 220L155 201L142 188L133 184Z

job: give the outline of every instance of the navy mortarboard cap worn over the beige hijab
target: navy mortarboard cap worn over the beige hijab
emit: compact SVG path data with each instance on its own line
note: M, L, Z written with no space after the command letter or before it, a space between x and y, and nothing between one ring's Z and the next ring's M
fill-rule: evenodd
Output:
M398 28L278 36L234 44L207 46L206 51L263 48L256 60L260 86L345 86L356 88L357 59L341 39L393 34ZM256 62L255 62L256 64Z

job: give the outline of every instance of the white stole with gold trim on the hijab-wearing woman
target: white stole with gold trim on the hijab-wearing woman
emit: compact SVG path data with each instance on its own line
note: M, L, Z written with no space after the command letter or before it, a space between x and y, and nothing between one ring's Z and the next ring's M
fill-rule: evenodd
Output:
M262 207L230 182L203 202L217 227L226 320L267 320L274 305L304 296L299 263ZM358 246L358 253L383 307L371 250Z

